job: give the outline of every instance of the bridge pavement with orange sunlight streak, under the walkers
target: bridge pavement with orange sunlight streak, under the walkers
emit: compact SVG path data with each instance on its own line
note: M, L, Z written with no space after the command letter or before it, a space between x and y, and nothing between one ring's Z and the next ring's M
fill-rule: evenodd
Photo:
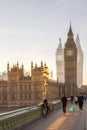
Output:
M82 112L79 108L72 112L73 105L67 107L66 114L62 109L55 110L47 118L42 117L22 130L87 130L87 104L84 104Z

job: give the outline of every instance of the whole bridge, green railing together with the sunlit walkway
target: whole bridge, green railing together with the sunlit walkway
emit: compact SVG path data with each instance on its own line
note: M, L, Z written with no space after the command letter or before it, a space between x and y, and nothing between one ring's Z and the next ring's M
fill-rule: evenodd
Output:
M87 130L87 104L83 111L72 111L74 104L68 101L67 112L63 114L61 101L53 101L51 112L44 118L41 105L26 107L0 114L0 130Z

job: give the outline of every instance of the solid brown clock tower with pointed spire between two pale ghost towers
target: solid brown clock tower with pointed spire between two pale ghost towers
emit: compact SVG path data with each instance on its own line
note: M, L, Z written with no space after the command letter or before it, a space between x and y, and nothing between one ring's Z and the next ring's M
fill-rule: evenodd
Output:
M70 86L73 87L77 86L77 47L74 42L71 24L68 32L67 41L64 47L64 64L65 83L69 83Z

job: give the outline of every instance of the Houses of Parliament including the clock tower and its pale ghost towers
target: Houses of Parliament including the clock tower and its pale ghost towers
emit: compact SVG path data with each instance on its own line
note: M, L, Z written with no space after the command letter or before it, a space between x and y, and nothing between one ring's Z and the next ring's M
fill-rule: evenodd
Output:
M79 65L78 65L79 64ZM47 93L50 101L58 100L63 94L67 97L78 94L78 86L83 81L83 53L79 37L74 41L71 25L67 40L62 48L61 39L56 50L57 80L48 78ZM10 67L7 64L7 80L0 80L1 107L27 107L43 100L44 63L40 66L31 62L31 75L25 76L24 65Z

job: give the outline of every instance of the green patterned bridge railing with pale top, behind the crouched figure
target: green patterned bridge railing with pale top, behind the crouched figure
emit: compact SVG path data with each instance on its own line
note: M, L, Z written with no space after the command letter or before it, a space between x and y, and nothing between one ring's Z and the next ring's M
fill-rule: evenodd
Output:
M53 101L50 104L52 110L58 109L61 106L60 100ZM19 130L25 124L42 117L41 105L18 109L0 114L0 130Z

